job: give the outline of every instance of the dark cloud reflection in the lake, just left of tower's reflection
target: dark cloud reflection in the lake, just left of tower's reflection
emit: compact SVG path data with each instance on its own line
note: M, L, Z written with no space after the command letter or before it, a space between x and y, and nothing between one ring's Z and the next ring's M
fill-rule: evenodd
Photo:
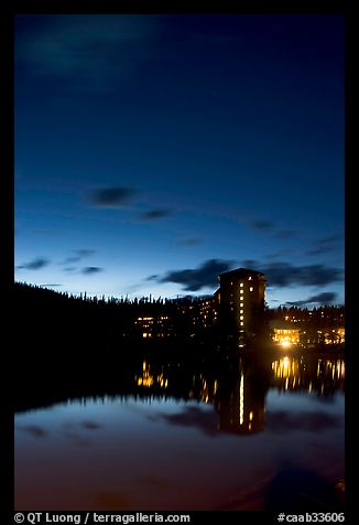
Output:
M218 416L199 407L186 407L180 414L165 414L159 417L170 425L197 428L206 436L215 437L218 433Z

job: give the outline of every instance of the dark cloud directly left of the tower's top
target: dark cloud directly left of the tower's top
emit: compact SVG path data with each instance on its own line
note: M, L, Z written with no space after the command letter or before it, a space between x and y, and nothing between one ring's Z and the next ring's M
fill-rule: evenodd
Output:
M215 288L218 285L218 275L229 270L232 264L232 260L209 259L196 269L168 271L164 277L157 278L157 281L183 285L186 291Z

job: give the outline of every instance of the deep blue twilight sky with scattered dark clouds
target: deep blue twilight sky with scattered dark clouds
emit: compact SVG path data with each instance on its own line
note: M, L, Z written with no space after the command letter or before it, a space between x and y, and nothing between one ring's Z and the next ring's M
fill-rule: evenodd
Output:
M344 19L18 15L15 279L344 303Z

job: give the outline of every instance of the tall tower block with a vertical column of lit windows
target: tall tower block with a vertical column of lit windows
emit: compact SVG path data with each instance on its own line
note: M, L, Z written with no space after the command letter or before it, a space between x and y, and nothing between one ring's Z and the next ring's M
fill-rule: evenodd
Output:
M263 331L264 275L239 268L219 275L220 324L224 334L240 345Z

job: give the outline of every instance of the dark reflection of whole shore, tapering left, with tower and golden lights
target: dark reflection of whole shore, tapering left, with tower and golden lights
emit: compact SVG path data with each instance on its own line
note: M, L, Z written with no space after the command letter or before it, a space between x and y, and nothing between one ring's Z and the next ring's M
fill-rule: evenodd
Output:
M89 399L195 400L211 405L217 415L214 430L238 435L261 432L265 427L268 390L307 393L319 398L345 389L342 358L281 356L272 361L236 358L214 367L208 363L187 366L181 363L145 358L132 367L119 371L116 382L99 389L96 385L84 395L52 398L51 392L31 401L32 406L76 399L86 405Z

